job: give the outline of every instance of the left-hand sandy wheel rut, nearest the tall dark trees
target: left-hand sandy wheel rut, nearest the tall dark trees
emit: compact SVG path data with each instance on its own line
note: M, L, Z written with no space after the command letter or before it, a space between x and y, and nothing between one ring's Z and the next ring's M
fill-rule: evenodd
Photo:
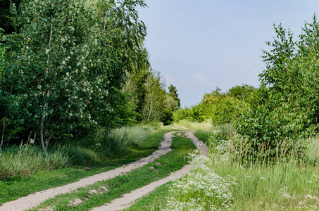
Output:
M80 179L80 181L76 181L72 184L67 184L65 186L50 188L45 191L39 191L37 193L32 193L28 196L18 198L17 200L13 200L8 203L4 203L0 206L0 211L20 211L20 210L28 210L32 207L36 207L44 200L52 198L58 194L68 193L70 191L75 190L76 188L80 188L83 186L87 186L89 184L94 184L96 181L102 181L106 179L111 179L113 177L117 177L125 172L130 172L131 170L135 170L143 165L146 165L149 162L152 162L156 158L165 155L170 149L170 144L172 143L172 136L175 132L169 132L164 135L164 140L161 142L161 146L155 151L153 154L149 155L146 158L142 158L141 160L137 160L128 165L124 165L123 167L118 167L115 170L110 170L108 172L102 172L100 174L95 174L91 177L86 177L84 179Z

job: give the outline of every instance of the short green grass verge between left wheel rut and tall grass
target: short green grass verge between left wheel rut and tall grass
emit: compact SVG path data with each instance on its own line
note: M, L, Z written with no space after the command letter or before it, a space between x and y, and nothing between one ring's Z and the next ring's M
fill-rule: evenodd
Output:
M32 175L27 177L11 177L0 180L0 205L22 196L27 196L30 193L69 184L93 174L106 172L115 167L144 158L156 151L165 132L168 131L152 132L144 143L128 148L125 154L120 153L112 157L104 155L104 160L99 159L94 164L69 165L57 170L32 172ZM96 158L99 157L101 156L96 155Z

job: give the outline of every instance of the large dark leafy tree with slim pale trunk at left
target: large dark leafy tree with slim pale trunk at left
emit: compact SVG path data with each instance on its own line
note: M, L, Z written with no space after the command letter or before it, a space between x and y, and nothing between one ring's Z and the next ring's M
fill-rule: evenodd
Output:
M19 121L45 153L51 139L115 127L111 117L123 102L125 72L139 65L146 35L137 6L144 1L96 1L88 8L85 1L25 0L13 7L1 124Z

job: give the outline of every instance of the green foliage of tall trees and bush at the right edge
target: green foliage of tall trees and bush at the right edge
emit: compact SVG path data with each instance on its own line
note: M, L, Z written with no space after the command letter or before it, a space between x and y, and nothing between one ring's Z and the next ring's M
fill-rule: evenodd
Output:
M292 32L281 25L274 28L277 37L267 42L273 49L263 51L266 69L260 75L262 86L251 95L251 110L235 124L239 134L256 140L249 149L251 155L262 145L269 149L268 156L274 157L278 144L318 132L317 18L314 15L313 23L305 24L298 41L292 41ZM303 157L305 150L306 145L300 144L299 156Z

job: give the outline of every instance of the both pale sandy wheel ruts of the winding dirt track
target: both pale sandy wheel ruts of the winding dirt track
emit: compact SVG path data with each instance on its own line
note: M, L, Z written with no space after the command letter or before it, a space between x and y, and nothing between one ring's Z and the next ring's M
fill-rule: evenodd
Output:
M173 133L176 132L169 132L165 134L164 140L161 142L161 146L158 148L157 151L152 153L146 158L142 158L141 160L137 160L136 162L132 162L128 165L124 165L123 167L118 167L115 170L110 170L108 172L102 172L100 174L95 174L91 177L86 177L84 179L80 179L80 181L74 182L72 184L68 184L65 186L57 187L57 188L50 188L45 191L39 191L37 193L32 193L29 196L25 196L22 198L18 198L17 200L13 200L8 203L4 203L0 207L0 211L11 211L11 210L28 210L32 207L36 207L40 203L42 203L44 200L47 200L49 198L52 198L58 194L68 193L70 191L75 190L76 188L80 188L83 186L87 186L89 184L94 184L96 181L102 181L106 179L111 179L113 177L117 177L125 172L130 172L131 170L137 169L139 167L142 167L143 165L146 165L149 162L152 162L156 158L161 157L162 155L165 155L170 149L170 144L172 143L172 137ZM199 141L194 135L194 132L187 132L186 135L189 139L193 141L193 143L201 150L201 152L206 155L208 153L207 146L204 145L202 141ZM122 198L118 198L111 203L108 203L106 205L103 205L101 207L95 207L93 210L121 210L125 207L128 207L128 203L132 203L134 200L137 200L137 198L140 198L144 196L146 193L149 193L150 191L154 190L156 186L160 186L161 184L165 184L166 182L172 180L176 177L182 177L185 172L187 172L189 166L185 166L182 168L182 170L179 170L177 172L173 172L169 177L166 177L164 179L161 179L159 181L155 181L147 186L144 186L142 188L139 188L135 191L132 191L131 193L125 194Z

